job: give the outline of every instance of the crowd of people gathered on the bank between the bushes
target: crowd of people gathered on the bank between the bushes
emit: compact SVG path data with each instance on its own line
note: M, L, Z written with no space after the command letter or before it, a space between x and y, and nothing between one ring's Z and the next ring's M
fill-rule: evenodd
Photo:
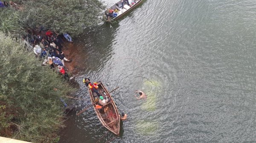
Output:
M40 31L44 33L45 31ZM72 59L67 59L67 56L62 51L64 48L63 39L67 39L68 42L73 42L69 34L57 34L52 31L46 31L44 35L38 33L37 35L28 34L27 39L23 38L23 42L26 44L28 50L33 50L36 57L42 60L42 66L49 65L53 70L57 70L64 76L64 79L68 79L69 76L66 72L64 62L72 62ZM57 68L55 68L57 67Z

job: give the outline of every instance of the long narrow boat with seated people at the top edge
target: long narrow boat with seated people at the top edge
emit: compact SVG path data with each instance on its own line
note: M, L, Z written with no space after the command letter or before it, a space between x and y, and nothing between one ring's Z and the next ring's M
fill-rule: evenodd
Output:
M124 7L122 7L122 2L121 0L119 2L117 2L116 4L114 4L113 6L111 6L110 8L108 8L105 11L105 15L108 17L108 13L109 10L112 9L114 10L114 12L117 14L116 17L111 18L108 21L111 20L118 20L119 18L121 18L123 15L125 15L126 13L128 13L128 11L131 11L132 9L134 9L136 6L138 6L140 3L143 2L143 0L128 0L129 4L131 6L128 6L128 3L126 3L126 1L124 0Z

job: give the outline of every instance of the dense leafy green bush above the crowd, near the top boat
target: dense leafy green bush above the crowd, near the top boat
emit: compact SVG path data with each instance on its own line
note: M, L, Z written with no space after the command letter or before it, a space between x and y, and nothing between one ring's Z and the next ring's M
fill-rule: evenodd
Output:
M23 19L29 27L42 25L71 36L98 24L104 8L99 0L27 0L23 3Z

